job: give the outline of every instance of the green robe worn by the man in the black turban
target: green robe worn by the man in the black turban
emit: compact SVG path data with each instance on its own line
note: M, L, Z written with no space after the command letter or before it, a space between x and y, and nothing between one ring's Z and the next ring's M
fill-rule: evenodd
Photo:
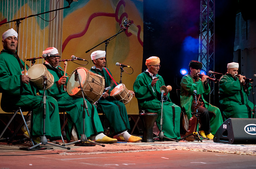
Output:
M199 78L199 81L194 82L193 77L187 74L181 79L180 86L180 106L183 110L185 110L188 119L192 117L191 107L193 103L193 91L196 90L198 95L201 94L201 98L204 101L205 108L207 108L209 112L214 114L212 119L210 119L210 126L212 128L211 133L214 135L219 129L219 126L223 123L223 120L219 108L212 106L204 100L203 95L210 92L209 84L208 89L205 89L204 83L201 81L201 78Z

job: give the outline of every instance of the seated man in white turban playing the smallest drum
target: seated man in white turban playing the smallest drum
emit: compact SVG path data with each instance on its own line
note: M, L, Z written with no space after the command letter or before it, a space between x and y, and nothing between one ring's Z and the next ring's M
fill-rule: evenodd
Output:
M106 65L105 55L106 52L102 50L97 50L91 53L91 60L95 65L91 67L91 71L105 78L105 87L111 86L110 90L106 91L98 101L98 108L107 117L112 132L111 134L115 135L114 138L118 139L118 141L140 141L140 137L132 136L128 133L130 124L124 103L109 96L109 93L115 86L118 86L118 84L114 81L114 78L112 78L110 70L104 68ZM130 92L133 93L133 91Z

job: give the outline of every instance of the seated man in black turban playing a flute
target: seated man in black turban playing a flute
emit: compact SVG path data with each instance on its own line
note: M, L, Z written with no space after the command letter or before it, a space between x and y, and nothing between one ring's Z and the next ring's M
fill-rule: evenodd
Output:
M180 82L180 106L185 110L188 119L191 118L196 108L199 108L199 118L201 124L201 136L213 139L213 134L219 129L223 123L219 108L212 106L204 100L204 94L209 94L210 86L207 82L209 76L199 74L203 64L199 61L191 61L189 63L190 72L183 76ZM196 93L194 91L196 90ZM195 94L198 102L196 107Z

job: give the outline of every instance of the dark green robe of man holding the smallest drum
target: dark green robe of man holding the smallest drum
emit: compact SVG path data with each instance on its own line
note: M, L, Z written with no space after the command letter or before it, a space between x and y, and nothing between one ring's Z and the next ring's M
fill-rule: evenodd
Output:
M112 76L110 70L107 70ZM113 85L110 76L107 74L107 71L104 68L102 71L99 69L96 70L94 66L91 68L91 71L105 78L105 88L112 86L108 92L110 94L116 85ZM116 135L122 133L123 131L130 130L129 119L123 102L117 101L115 98L108 96L107 98L101 98L97 105L97 108L99 108L99 110L105 114L109 122L111 134Z

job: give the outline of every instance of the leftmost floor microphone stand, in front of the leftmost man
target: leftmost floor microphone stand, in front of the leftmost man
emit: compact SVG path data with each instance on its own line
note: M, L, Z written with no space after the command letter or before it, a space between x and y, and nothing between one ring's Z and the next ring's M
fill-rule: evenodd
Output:
M61 147L61 148L70 150L70 147L64 147L64 146L60 146L60 145L57 145L57 144L49 143L49 142L47 141L46 136L45 136L45 134L46 134L46 133L45 133L45 118L46 118L46 96L45 96L45 88L46 88L46 86L47 86L47 77L44 76L44 93L43 93L43 103L44 103L44 111L43 111L43 136L41 136L41 139L40 139L40 143L39 143L39 144L36 144L36 145L34 145L34 146L31 146L31 147L27 148L27 150L31 150L31 149L33 149L33 148L35 148L35 147L37 147L37 146L40 146L41 144L44 144L44 145L50 144L50 145L52 145L52 146L57 146L57 147Z

